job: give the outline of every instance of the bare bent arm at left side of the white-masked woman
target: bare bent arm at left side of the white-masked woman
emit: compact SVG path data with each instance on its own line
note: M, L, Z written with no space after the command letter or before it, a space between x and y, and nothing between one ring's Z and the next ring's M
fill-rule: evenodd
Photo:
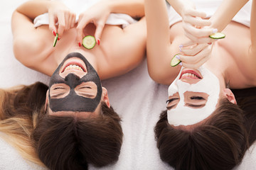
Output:
M171 49L169 18L164 0L145 0L147 26L146 57L151 79L170 84L181 66L171 67L175 51ZM178 47L176 47L178 49Z

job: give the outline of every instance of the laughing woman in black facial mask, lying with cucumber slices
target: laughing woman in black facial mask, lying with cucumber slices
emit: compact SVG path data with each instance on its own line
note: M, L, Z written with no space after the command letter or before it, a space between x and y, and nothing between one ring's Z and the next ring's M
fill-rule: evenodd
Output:
M117 162L120 118L100 79L129 72L145 53L143 1L75 3L28 1L11 21L17 60L51 78L49 86L1 90L0 129L24 158L48 169ZM85 35L95 36L91 50L82 46Z

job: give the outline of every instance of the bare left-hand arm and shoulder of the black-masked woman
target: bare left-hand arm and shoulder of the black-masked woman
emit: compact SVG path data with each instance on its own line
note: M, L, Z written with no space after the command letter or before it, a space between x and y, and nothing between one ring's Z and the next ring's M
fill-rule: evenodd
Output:
M27 67L35 67L49 51L42 47L46 35L38 33L33 26L33 18L46 13L50 1L27 1L14 11L11 18L11 29L14 38L14 55ZM51 38L51 37L50 37ZM53 37L52 37L53 38Z

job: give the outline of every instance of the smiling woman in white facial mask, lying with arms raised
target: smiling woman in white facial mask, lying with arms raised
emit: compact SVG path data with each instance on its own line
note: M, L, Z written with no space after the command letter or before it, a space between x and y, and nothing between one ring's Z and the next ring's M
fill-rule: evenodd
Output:
M168 2L145 1L149 75L171 84L155 127L159 155L175 169L233 169L256 140L255 92L235 98L227 88L256 86L256 1ZM210 39L215 29L225 38Z

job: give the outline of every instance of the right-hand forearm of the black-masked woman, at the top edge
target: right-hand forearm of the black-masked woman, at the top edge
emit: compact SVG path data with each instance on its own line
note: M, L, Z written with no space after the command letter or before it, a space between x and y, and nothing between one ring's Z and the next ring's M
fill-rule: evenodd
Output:
M144 0L107 0L111 13L126 13L132 17L144 16Z

